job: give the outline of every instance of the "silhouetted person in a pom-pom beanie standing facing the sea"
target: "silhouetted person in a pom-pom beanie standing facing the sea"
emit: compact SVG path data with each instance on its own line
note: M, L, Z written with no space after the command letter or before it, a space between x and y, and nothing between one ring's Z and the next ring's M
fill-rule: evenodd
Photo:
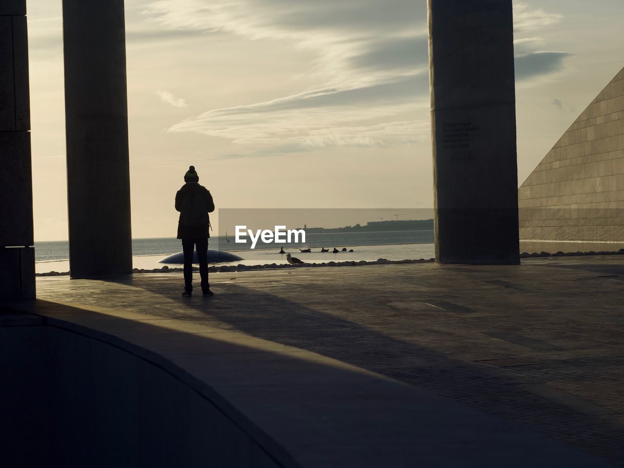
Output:
M193 250L197 250L199 275L202 278L202 293L212 296L208 283L208 238L210 217L215 211L212 195L206 187L199 185L199 176L195 167L190 166L184 175L186 182L175 194L175 209L180 212L178 221L178 239L182 239L184 251L184 292L190 297L193 293Z

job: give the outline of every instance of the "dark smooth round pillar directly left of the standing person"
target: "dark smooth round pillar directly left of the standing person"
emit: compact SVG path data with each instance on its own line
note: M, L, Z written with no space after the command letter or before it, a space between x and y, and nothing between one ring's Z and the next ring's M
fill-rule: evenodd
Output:
M63 0L69 269L132 271L123 0Z

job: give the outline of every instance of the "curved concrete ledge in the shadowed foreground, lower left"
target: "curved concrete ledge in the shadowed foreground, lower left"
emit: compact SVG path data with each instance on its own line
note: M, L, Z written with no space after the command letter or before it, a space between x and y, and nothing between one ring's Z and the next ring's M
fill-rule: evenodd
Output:
M11 428L3 453L22 462L7 466L608 466L498 417L238 331L44 301L26 311L36 316L0 327L2 377L12 382L2 399L14 403L0 414Z

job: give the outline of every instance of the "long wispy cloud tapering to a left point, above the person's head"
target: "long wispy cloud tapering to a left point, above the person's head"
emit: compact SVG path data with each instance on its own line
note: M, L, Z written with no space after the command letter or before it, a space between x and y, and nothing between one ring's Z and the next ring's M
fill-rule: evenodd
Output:
M428 106L429 76L418 74L358 88L324 88L251 105L214 109L173 125L235 144L294 147L409 145L422 140L429 122L396 121ZM379 123L383 120L383 123ZM283 144L283 145L282 145Z

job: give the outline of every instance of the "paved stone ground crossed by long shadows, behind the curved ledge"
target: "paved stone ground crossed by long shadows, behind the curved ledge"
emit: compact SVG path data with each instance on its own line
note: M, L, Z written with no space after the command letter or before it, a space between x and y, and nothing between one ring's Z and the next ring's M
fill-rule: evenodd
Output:
M624 466L624 258L39 278L38 297L236 329L499 414ZM414 422L417 424L417 421Z

